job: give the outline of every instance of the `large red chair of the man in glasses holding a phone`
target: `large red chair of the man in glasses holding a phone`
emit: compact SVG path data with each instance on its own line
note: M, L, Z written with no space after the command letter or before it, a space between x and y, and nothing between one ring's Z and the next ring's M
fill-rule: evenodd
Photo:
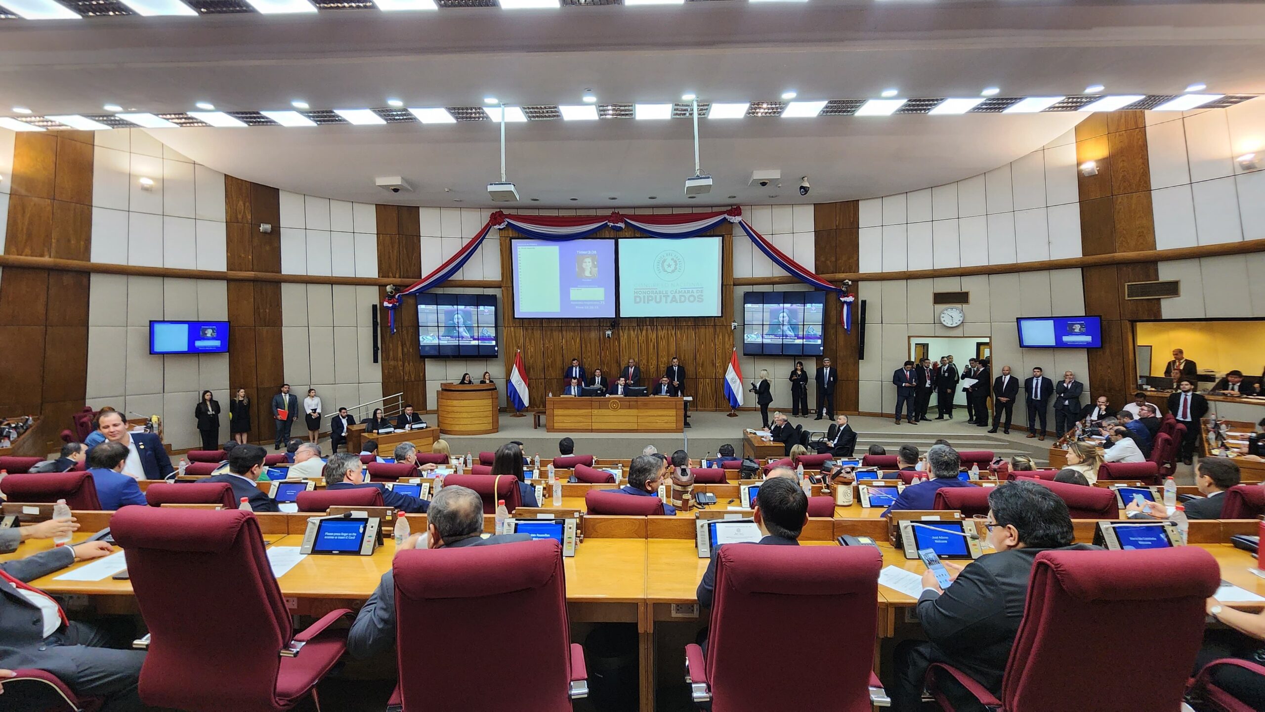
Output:
M1002 709L1178 709L1203 641L1204 599L1219 583L1217 560L1195 546L1041 551L1002 699L947 665L932 665L927 684L950 711L935 685L940 674ZM1137 645L1133 634L1155 621L1164 621L1164 645Z

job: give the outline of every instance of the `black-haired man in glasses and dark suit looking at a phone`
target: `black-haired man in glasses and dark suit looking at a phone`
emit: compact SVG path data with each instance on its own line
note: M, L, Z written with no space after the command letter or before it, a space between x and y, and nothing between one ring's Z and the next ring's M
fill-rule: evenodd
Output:
M953 665L1001 698L1002 673L1023 620L1036 555L1051 549L1095 549L1071 543L1068 505L1035 482L996 487L988 508L988 541L997 553L965 567L944 562L954 580L942 591L935 574L922 574L917 615L927 642L907 641L896 649L893 712L922 709L923 679L932 663ZM983 709L956 680L937 682L954 709Z

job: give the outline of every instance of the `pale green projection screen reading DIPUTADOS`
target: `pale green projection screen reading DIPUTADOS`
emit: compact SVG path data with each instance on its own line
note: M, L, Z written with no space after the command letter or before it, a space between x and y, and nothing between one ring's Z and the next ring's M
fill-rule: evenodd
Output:
M620 239L620 316L720 316L719 236Z

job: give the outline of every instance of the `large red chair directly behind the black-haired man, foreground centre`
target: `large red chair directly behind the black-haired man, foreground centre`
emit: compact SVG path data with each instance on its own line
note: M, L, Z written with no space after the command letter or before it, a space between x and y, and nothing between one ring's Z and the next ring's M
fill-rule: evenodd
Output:
M707 656L698 645L686 646L686 682L694 702L710 699L716 712L870 712L873 702L885 699L873 673L882 565L873 546L722 546ZM848 615L778 615L784 611ZM751 674L750 661L760 650L806 646L835 661L829 675L812 665Z

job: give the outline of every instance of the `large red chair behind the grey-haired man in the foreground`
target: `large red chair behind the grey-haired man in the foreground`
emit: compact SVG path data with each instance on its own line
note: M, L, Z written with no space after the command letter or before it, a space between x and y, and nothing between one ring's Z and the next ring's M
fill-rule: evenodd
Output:
M569 712L571 698L588 693L557 541L401 551L392 572L404 709ZM452 654L436 658L436 640ZM490 677L469 664L486 655L488 640L498 654L531 664Z

